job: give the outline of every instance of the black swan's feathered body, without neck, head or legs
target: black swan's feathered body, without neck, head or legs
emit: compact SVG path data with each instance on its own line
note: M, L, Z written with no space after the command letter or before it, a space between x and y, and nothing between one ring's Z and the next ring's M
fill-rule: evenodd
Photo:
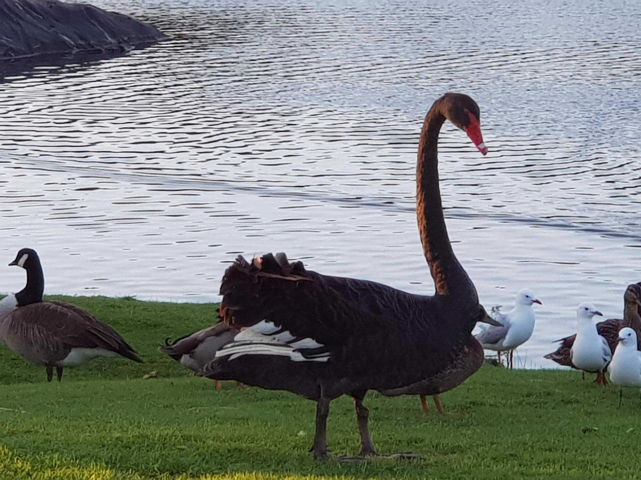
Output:
M324 396L337 397L437 376L470 338L469 331L452 335L457 329L447 323L469 322L471 330L485 316L478 304L453 305L449 297L320 275L301 262L290 264L283 253L251 263L238 257L225 272L221 294L220 315L227 324L284 340L272 344L274 355L251 355L252 348L269 348L237 337L201 374L310 399L317 399L321 389ZM460 315L453 315L457 310ZM296 348L297 342L312 346Z

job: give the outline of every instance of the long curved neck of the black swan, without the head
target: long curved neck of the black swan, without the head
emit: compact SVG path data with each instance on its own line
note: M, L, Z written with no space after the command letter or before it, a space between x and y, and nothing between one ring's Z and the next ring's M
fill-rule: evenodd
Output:
M420 132L419 158L416 172L416 214L420 241L428 260L437 293L456 295L476 305L474 284L456 259L447 236L440 189L438 188L438 133L445 116L437 101L425 118Z

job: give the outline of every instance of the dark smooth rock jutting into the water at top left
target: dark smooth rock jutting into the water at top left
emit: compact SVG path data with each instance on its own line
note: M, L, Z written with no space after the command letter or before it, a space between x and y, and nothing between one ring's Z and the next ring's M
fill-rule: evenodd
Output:
M56 0L0 0L0 59L128 51L167 38L121 13Z

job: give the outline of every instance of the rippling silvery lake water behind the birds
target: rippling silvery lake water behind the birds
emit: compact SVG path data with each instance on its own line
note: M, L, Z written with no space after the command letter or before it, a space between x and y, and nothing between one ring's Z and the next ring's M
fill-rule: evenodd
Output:
M217 301L236 255L284 251L431 294L416 148L447 91L490 149L441 133L454 250L487 307L543 302L521 365L641 280L641 4L94 4L171 40L0 83L0 260L36 248L46 292Z

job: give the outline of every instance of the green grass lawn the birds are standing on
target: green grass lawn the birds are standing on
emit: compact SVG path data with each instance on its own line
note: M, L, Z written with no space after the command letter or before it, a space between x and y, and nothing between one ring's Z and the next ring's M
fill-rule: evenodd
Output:
M443 395L444 417L417 397L370 392L380 452L420 460L317 462L315 404L287 392L224 390L165 360L165 337L210 324L214 305L65 298L112 324L146 364L94 361L47 383L42 367L0 350L0 479L635 479L641 402L578 372L485 366ZM160 378L143 380L157 371ZM331 404L329 444L358 452L353 403Z

